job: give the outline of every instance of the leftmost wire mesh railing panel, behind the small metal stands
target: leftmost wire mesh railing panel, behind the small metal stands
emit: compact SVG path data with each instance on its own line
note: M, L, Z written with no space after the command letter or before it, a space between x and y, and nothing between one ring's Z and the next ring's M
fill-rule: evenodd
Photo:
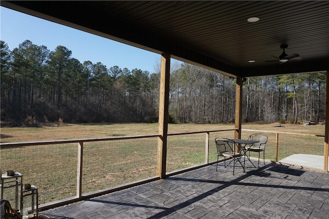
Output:
M23 174L24 184L38 185L41 204L76 195L76 144L1 149L1 169Z

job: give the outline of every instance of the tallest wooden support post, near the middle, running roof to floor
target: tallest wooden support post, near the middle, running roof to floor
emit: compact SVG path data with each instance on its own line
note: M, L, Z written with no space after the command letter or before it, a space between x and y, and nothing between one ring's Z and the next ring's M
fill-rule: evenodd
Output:
M159 94L159 135L157 148L157 176L166 177L167 134L169 108L170 54L161 54Z

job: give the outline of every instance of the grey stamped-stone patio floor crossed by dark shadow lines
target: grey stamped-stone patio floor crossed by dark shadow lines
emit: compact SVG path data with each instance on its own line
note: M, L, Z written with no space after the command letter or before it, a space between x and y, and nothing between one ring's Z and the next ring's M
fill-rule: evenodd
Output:
M224 162L41 212L70 218L327 218L329 174Z

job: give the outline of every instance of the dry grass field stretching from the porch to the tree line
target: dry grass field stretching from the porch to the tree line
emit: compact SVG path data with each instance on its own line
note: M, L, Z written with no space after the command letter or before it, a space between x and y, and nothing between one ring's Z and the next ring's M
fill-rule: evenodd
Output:
M324 134L324 126L243 124L243 129ZM168 133L233 129L234 124L169 124ZM61 127L1 128L1 143L72 140L157 134L157 124L64 124ZM244 131L242 138L251 133ZM273 160L275 133L265 157ZM214 138L233 137L233 131L210 133L209 161L216 160ZM157 137L84 143L83 193L142 180L156 175ZM323 154L323 138L280 134L279 157L294 153ZM1 169L21 172L24 183L39 188L40 203L76 194L78 145L57 144L1 149ZM168 136L167 172L205 162L205 133ZM321 154L322 153L322 154ZM254 154L255 156L256 154Z

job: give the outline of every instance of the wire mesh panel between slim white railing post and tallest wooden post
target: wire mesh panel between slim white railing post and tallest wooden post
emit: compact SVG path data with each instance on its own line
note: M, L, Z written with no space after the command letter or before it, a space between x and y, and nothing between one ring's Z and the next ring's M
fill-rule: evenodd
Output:
M155 176L156 145L157 137L84 143L82 193Z

